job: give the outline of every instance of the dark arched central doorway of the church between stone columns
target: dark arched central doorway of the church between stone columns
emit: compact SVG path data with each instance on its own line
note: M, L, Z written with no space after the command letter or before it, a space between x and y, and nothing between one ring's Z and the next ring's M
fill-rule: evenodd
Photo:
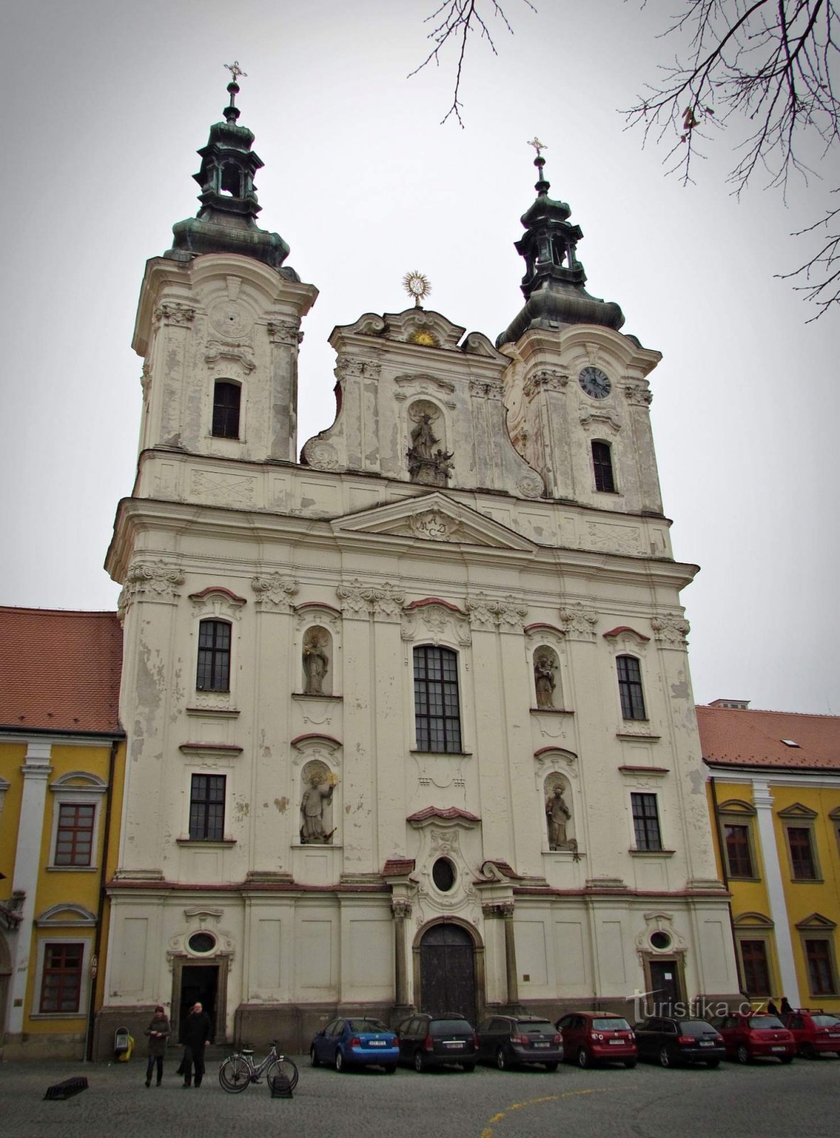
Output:
M420 1011L460 1012L476 1022L475 946L460 925L433 925L420 940Z

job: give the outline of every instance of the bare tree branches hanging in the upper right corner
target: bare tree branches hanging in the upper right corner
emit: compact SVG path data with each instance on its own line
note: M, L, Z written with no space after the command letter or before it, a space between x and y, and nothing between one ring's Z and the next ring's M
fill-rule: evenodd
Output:
M665 163L683 182L724 127L740 132L727 176L736 196L760 173L783 196L791 176L818 175L807 149L816 140L822 162L840 141L835 0L686 0L685 8L662 33L682 41L674 63L625 112L627 125L640 125L645 142L674 139ZM780 274L805 281L796 287L817 316L840 303L840 209L793 236L821 229L814 256Z

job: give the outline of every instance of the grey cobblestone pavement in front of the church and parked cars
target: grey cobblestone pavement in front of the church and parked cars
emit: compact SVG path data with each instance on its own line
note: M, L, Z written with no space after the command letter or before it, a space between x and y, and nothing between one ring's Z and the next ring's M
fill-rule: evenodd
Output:
M225 1094L217 1064L200 1089L181 1089L167 1058L164 1083L143 1086L145 1062L0 1064L3 1138L834 1138L840 1061L772 1062L717 1071L640 1064L579 1071L418 1075L401 1069L338 1074L296 1057L295 1097L272 1099L265 1083ZM89 1089L44 1102L53 1082L83 1074Z

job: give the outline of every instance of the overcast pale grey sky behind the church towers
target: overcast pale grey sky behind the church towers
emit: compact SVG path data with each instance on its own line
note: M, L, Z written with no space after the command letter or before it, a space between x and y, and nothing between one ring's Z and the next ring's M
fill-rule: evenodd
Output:
M363 312L427 307L491 338L521 305L512 242L533 199L535 132L552 196L584 231L588 289L664 353L653 430L699 702L840 714L835 430L840 313L773 274L838 180L756 187L738 204L720 137L698 184L662 176L619 108L670 57L681 0L507 0L499 57L477 40L466 130L440 126L454 59L407 80L435 0L27 0L5 5L0 603L108 609L102 560L131 492L148 257L195 214L195 151L239 59L241 123L265 163L261 223L321 295L304 328L298 445L333 418L327 336ZM10 106L9 106L10 104Z

